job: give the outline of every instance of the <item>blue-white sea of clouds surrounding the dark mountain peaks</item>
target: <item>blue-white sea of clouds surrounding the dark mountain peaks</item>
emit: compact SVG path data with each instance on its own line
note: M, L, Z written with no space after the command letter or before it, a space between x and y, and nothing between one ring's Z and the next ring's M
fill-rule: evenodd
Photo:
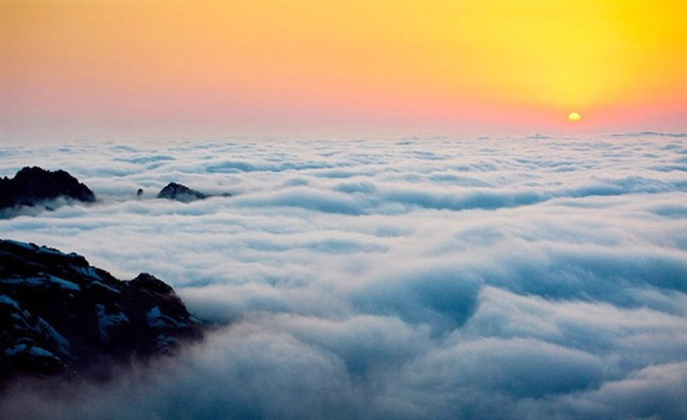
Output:
M95 204L1 236L227 323L14 418L685 419L687 135L7 144ZM170 181L203 193L155 198ZM136 197L138 188L144 189Z

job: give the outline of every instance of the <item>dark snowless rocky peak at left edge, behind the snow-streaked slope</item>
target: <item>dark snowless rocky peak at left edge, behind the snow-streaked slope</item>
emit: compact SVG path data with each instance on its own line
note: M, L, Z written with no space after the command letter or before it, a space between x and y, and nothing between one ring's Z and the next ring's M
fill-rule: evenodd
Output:
M57 198L95 202L95 195L68 172L25 167L13 179L0 179L0 209L29 206Z

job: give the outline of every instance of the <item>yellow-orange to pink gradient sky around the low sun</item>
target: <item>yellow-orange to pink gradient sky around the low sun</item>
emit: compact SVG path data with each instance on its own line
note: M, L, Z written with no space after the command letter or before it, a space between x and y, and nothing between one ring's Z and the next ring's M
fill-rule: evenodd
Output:
M2 0L0 11L3 141L687 131L683 0Z

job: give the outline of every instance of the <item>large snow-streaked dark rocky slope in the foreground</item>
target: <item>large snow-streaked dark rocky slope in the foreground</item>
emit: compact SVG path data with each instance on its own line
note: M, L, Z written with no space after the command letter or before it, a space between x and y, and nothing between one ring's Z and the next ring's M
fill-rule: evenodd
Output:
M150 274L121 281L76 253L9 240L0 240L0 260L0 384L107 379L203 337L174 290Z

